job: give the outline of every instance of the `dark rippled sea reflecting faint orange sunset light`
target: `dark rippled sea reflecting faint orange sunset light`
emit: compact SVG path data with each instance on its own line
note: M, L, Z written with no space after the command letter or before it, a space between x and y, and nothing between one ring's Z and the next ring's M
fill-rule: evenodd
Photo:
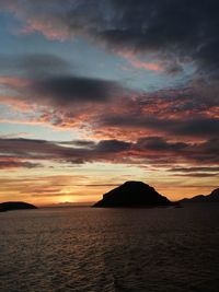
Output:
M0 213L0 291L219 291L219 205Z

